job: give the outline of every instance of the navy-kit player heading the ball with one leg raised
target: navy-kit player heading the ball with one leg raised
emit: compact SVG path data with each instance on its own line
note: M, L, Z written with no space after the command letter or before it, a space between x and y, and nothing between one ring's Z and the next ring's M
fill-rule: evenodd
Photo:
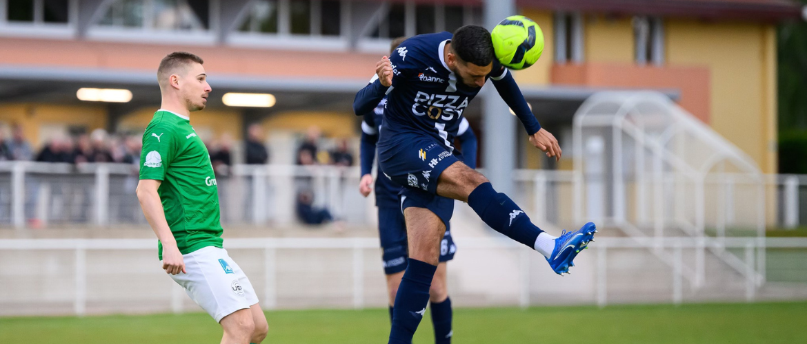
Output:
M440 241L454 210L448 198L466 201L487 226L540 252L558 274L574 266L572 260L596 233L587 223L558 238L546 234L510 197L496 193L485 176L452 154L456 123L488 78L524 124L530 143L560 159L558 140L541 128L508 69L495 60L484 27L407 39L378 62L374 80L353 101L354 112L363 115L387 96L378 162L384 176L406 187L399 196L409 262L395 296L390 344L412 342L425 313Z

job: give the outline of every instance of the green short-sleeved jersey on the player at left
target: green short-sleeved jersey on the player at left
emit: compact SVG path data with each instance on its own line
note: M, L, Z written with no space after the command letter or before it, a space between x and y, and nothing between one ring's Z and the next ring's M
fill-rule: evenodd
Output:
M165 220L182 255L203 247L222 247L219 192L210 154L190 118L157 110L143 134L140 179L162 180ZM162 244L158 242L162 259Z

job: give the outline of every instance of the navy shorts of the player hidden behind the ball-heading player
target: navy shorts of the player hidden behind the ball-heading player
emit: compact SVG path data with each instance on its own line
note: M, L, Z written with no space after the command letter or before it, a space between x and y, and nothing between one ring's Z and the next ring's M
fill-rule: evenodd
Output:
M441 197L443 198L443 197ZM451 200L452 202L454 200ZM453 204L453 203L452 203ZM403 213L398 207L378 207L378 237L383 249L384 273L391 275L406 270L409 259L406 223ZM440 242L440 261L454 259L457 246L451 238L449 226L445 226L445 235Z

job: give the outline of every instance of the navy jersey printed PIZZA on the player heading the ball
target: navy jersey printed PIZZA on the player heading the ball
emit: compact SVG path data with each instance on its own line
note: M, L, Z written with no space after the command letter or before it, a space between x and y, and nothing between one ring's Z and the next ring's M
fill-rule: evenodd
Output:
M443 51L451 37L450 32L416 35L392 52L392 86L387 89L379 146L391 144L397 133L418 132L453 151L462 111L481 88L463 84L445 64ZM488 77L500 79L507 73L494 59Z

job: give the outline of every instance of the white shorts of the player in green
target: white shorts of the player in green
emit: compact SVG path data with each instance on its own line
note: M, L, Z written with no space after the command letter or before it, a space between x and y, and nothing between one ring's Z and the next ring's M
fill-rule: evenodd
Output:
M227 250L203 247L182 255L182 259L187 273L170 275L171 278L216 322L257 304L255 289Z

